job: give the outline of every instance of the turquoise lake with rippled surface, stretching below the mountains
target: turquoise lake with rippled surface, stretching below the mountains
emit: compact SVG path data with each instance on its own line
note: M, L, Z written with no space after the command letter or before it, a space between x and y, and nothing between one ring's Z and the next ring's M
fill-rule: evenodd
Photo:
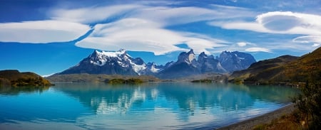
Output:
M296 89L199 83L57 83L0 90L0 129L215 129L271 112Z

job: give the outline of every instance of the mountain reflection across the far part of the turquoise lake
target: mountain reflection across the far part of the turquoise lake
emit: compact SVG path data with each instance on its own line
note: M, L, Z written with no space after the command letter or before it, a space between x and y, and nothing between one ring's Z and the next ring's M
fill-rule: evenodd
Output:
M61 84L56 90L75 97L96 114L126 114L154 111L156 107L193 116L195 107L206 110L219 107L225 111L245 109L255 101L289 102L293 91L287 87L262 87L232 84L146 83L141 85ZM165 98L165 99L163 99ZM177 102L177 107L168 107ZM140 109L141 108L141 109Z

